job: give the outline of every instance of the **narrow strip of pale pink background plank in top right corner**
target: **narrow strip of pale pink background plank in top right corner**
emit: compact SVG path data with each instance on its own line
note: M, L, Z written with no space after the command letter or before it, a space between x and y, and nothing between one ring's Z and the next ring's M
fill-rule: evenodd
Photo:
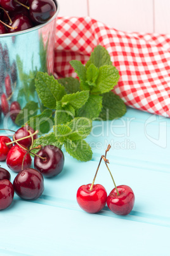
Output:
M155 0L155 32L160 34L170 33L170 1Z

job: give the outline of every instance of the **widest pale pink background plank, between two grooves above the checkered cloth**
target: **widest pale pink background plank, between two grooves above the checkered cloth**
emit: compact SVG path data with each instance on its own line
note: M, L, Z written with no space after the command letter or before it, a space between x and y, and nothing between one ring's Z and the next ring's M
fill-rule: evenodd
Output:
M89 0L89 16L122 31L153 32L152 0Z

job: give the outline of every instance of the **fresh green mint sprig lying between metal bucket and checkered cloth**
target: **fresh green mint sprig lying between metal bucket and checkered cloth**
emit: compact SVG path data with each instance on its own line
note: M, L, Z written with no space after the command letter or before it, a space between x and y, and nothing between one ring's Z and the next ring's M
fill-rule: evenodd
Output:
M41 133L53 128L49 134L36 139L34 146L64 146L72 157L87 161L91 159L92 151L84 139L91 132L92 120L122 117L126 106L111 91L117 85L119 71L112 65L103 46L96 46L85 66L79 60L71 60L70 65L79 80L72 77L55 80L47 73L37 72L35 86L43 111L29 116L28 124L34 129L39 125ZM23 122L21 116L19 120Z

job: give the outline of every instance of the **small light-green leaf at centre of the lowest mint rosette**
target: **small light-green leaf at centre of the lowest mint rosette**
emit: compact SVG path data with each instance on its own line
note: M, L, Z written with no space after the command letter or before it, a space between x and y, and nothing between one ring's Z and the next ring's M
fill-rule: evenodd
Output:
M58 124L53 126L53 130L55 132L55 138L60 142L63 143L68 136L71 134L72 130L66 124Z

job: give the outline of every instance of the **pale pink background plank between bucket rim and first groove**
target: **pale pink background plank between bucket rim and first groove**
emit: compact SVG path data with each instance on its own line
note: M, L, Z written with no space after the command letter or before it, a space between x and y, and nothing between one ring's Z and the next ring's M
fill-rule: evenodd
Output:
M88 4L86 0L62 0L59 2L60 12L58 16L84 17L88 15Z

